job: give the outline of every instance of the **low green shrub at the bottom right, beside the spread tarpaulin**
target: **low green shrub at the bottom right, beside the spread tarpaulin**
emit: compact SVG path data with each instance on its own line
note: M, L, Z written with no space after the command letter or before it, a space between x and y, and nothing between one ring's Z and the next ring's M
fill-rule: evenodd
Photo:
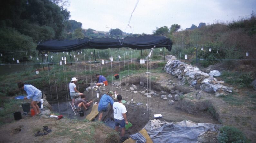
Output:
M219 143L248 143L248 139L242 131L235 127L223 126L218 136Z

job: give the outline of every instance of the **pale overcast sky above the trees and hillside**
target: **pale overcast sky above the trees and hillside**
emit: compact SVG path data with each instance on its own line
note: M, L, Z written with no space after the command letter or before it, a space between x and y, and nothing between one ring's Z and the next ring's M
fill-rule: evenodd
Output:
M139 0L134 10L137 1L70 0L67 9L70 19L81 22L83 29L119 28L133 34L152 34L157 27L170 28L172 24L185 30L200 22L231 22L248 18L256 11L256 0Z

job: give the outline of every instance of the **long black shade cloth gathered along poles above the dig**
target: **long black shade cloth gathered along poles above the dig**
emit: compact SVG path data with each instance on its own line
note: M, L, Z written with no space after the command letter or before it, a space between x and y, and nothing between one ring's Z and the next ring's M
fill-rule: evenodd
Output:
M172 41L164 36L141 35L137 37L127 36L125 38L84 38L74 40L51 40L40 42L36 50L49 52L69 52L79 49L108 49L128 47L132 49L151 49L153 47L166 47L172 50Z

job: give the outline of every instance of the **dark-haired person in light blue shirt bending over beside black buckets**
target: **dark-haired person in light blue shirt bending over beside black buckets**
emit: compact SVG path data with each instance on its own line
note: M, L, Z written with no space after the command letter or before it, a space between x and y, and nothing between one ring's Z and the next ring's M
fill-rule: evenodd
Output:
M35 115L38 115L40 113L40 110L36 103L41 101L42 92L39 89L35 88L33 85L25 84L23 82L19 82L18 87L22 90L25 90L28 94L27 97L24 97L24 100L32 98L32 102L30 103L30 105L34 109Z

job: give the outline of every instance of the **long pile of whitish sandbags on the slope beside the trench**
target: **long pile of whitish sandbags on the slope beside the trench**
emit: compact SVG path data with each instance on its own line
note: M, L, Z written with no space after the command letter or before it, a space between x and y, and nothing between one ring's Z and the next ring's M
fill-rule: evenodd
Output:
M181 62L172 56L167 62L165 68L167 73L177 77L183 82L188 82L196 89L205 92L214 92L216 96L232 93L233 87L222 85L224 81L218 81L213 76L220 76L219 71L211 71L209 74L200 71L197 67Z

